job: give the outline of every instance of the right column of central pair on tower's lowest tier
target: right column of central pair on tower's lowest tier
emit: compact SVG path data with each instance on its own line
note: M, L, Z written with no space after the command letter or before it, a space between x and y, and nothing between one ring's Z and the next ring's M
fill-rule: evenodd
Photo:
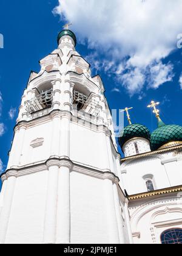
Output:
M70 243L70 165L59 168L56 243Z

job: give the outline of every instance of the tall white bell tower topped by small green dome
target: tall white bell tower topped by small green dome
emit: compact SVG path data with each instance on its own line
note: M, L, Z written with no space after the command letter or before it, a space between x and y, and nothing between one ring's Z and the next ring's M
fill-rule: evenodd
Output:
M1 177L0 243L130 243L102 80L71 30L58 44L22 95Z

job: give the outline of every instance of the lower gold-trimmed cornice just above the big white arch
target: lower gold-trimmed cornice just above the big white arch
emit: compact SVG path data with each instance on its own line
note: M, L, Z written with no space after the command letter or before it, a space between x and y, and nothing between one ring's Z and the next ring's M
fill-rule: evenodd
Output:
M155 191L146 192L146 193L133 194L132 196L128 196L128 199L129 201L133 201L137 199L144 199L144 198L163 195L163 194L177 193L180 191L182 191L182 185L177 187L163 188L161 190L155 190Z

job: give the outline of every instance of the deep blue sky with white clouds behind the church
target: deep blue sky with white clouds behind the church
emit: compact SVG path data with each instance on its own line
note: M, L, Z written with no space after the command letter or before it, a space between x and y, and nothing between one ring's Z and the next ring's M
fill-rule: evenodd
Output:
M120 6L118 0L113 1L113 7L107 8L106 2L103 5L104 1L101 0L97 9L94 8L95 0L90 1L89 6L84 5L85 0L59 2L62 6L59 5L59 15L55 16L52 10L58 5L57 0L16 0L11 3L1 0L0 34L4 36L4 49L0 49L2 170L5 170L7 165L13 127L30 71L39 71L39 60L57 48L56 38L65 20L73 22L72 30L78 39L76 50L91 63L93 76L99 73L103 78L110 108L133 107L133 123L144 124L152 131L156 127L156 120L146 106L153 99L161 102L161 118L165 123L182 125L182 90L179 82L182 72L182 49L177 48L177 35L182 33L182 26L181 13L178 15L176 11L181 7L180 2L177 0L177 5L169 0L172 7L164 7L157 17L147 18L147 21L143 12L149 12L149 6L147 3L146 6L141 6L140 3L140 10L144 7L140 15L143 15L143 20L138 21L138 16L134 15L133 23L138 22L135 30L131 30L132 21L127 18L122 18L120 24L120 16L116 16L115 12L121 8L121 16L124 17L122 12L127 12L127 6ZM153 0L154 2L156 1ZM162 2L163 0L161 4ZM132 3L133 8L129 9L131 16L138 8L133 1ZM85 8L82 8L83 6ZM160 9L160 6L156 8ZM174 23L171 21L172 14L168 13L169 26L165 8L166 13L171 10L175 13ZM105 12L109 14L106 15ZM163 16L166 20L162 19ZM153 20L157 18L160 21L160 31L157 24L153 24ZM161 33L164 36L160 38ZM158 45L160 47L157 47ZM153 54L150 54L151 52Z

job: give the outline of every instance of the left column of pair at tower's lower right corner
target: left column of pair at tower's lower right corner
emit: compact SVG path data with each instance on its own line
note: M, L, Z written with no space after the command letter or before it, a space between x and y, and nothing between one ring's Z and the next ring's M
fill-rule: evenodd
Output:
M107 216L107 230L109 234L109 243L110 244L119 244L120 237L118 232L118 223L116 219L115 211L115 201L113 197L113 183L112 180L104 180L105 188L105 202L106 202L106 211L103 214Z

